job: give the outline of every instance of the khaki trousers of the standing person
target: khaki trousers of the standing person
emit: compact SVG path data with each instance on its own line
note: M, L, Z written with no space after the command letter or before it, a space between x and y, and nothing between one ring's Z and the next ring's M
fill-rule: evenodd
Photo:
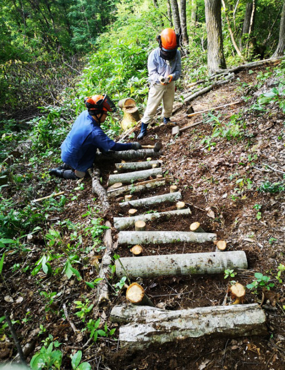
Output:
M172 108L174 103L175 82L171 81L167 85L155 83L151 86L148 98L148 104L144 117L141 122L150 123L156 114L157 108L162 101L163 104L163 117L169 118L172 116Z

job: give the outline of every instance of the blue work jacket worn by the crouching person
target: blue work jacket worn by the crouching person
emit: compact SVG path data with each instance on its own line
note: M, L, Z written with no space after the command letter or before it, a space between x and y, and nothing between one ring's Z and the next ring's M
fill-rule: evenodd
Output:
M77 171L86 172L92 167L97 148L107 152L115 144L88 111L84 111L61 145L61 159Z

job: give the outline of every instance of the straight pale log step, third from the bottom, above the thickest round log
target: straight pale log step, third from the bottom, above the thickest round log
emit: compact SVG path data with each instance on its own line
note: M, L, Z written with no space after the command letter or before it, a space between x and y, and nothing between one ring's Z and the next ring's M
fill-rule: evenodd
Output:
M145 231L119 232L118 244L174 244L174 243L206 243L217 239L212 233Z

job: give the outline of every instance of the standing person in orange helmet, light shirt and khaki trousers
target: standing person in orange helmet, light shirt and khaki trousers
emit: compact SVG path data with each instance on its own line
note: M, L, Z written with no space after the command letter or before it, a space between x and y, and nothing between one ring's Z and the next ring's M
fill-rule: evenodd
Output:
M170 122L174 103L175 82L181 75L181 56L178 50L179 35L172 28L164 29L157 36L159 47L148 59L149 81L151 82L147 109L141 118L138 140L147 134L147 128L161 101L163 102L163 123Z

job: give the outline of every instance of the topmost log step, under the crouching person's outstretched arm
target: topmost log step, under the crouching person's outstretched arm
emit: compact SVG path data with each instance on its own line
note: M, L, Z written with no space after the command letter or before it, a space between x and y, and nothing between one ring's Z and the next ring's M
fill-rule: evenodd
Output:
M100 152L96 153L95 160L100 163L102 163L102 161L114 161L121 159L125 161L131 161L134 159L146 158L149 156L159 157L160 155L160 152L155 152L153 149L125 150L122 152L109 151L104 152L104 154Z

